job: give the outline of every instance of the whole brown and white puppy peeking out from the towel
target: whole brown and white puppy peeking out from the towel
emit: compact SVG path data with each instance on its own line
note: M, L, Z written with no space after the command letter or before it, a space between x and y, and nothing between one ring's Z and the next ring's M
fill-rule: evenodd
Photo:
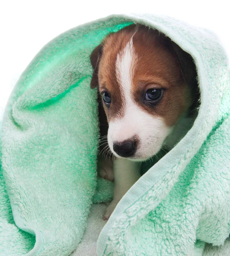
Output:
M191 127L196 109L196 68L191 56L170 38L133 24L111 33L90 56L91 88L98 87L101 177L114 179L114 198L103 217L140 177L140 163L170 150ZM108 147L106 147L108 145Z

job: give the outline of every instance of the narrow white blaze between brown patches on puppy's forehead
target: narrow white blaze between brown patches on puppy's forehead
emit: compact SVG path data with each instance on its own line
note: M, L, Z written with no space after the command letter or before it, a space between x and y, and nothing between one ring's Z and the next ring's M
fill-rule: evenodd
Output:
M116 60L116 76L126 104L131 101L132 75L136 59L131 38L123 51L118 53Z

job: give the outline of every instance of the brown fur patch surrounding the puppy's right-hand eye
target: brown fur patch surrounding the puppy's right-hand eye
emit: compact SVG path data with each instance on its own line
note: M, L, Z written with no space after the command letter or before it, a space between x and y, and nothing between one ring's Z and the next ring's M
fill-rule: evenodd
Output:
M157 30L140 26L133 37L133 47L138 57L132 78L133 99L150 115L162 117L167 126L174 125L190 105L190 87L170 39ZM163 97L156 105L143 100L152 88L163 89Z

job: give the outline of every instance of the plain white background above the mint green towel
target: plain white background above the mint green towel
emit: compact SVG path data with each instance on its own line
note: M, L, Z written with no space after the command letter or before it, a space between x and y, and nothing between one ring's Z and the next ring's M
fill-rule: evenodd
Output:
M230 56L229 0L1 0L0 111L20 74L46 43L79 24L132 12L169 15L211 29Z

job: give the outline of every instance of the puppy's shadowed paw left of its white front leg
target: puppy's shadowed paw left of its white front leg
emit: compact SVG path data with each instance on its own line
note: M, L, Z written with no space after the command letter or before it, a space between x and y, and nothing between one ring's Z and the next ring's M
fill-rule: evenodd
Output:
M98 175L105 180L114 181L112 159L98 160Z

